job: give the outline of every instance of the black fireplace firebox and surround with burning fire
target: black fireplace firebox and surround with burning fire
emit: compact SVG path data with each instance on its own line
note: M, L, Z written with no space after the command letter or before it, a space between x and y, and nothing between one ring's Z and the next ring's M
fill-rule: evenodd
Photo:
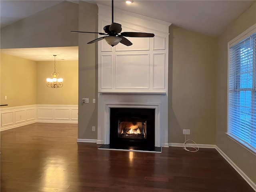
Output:
M154 118L152 108L110 108L110 147L154 148Z

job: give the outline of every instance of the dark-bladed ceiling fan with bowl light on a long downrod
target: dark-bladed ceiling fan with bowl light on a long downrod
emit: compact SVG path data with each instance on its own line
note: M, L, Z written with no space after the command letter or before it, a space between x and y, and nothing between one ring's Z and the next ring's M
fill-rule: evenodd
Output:
M112 0L112 24L104 26L103 30L105 33L85 32L85 31L71 31L71 32L97 33L100 35L104 35L100 38L97 38L95 40L88 42L87 44L92 44L92 43L95 43L95 42L98 42L98 41L104 39L112 47L117 45L119 42L126 46L131 46L132 42L130 42L125 37L154 37L155 36L153 33L142 33L142 32L122 32L121 33L121 31L122 31L121 24L114 23L114 0Z

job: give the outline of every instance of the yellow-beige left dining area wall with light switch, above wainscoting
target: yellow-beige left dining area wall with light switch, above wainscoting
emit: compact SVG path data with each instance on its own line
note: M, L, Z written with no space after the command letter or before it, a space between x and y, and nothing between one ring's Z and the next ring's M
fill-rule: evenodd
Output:
M36 62L1 53L0 72L1 104L36 104Z

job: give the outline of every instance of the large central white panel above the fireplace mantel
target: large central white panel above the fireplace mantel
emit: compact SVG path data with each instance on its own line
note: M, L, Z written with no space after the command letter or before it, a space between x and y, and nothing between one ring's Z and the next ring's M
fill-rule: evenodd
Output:
M149 88L149 54L116 55L116 88Z

